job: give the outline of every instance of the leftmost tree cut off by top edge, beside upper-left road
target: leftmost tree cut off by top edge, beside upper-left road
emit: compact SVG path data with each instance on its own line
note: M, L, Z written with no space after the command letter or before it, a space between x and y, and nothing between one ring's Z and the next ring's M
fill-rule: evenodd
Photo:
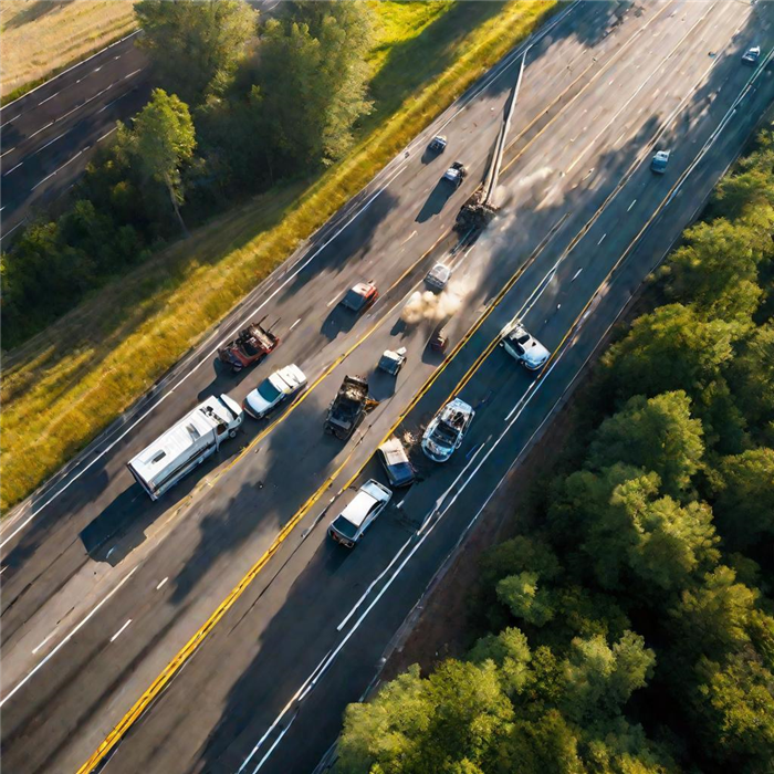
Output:
M138 0L135 10L161 85L190 104L222 93L258 19L245 0Z

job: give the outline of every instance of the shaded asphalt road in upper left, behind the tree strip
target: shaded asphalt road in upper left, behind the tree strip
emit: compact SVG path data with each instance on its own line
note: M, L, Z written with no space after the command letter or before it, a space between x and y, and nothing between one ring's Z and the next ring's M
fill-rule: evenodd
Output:
M276 14L281 0L253 0ZM0 248L81 177L100 143L150 96L153 72L137 33L0 107Z

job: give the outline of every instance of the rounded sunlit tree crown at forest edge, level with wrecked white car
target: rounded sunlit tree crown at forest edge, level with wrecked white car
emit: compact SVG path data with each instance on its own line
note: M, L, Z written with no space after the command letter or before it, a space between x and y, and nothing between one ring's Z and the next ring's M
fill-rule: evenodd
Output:
M655 471L661 490L680 496L690 488L703 452L701 421L691 418L691 400L678 390L630 398L602 423L588 461L594 468L624 462Z

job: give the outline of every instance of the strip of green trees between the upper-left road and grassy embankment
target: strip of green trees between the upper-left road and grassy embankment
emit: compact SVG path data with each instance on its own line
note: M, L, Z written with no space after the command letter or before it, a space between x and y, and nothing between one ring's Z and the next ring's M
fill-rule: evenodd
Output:
M139 0L158 87L56 218L0 255L0 347L39 331L234 198L341 158L372 109L366 0Z

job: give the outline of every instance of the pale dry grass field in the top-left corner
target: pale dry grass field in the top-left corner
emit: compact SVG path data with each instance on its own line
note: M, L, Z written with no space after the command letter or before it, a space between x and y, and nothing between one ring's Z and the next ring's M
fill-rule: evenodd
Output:
M135 0L2 0L0 104L135 25Z

